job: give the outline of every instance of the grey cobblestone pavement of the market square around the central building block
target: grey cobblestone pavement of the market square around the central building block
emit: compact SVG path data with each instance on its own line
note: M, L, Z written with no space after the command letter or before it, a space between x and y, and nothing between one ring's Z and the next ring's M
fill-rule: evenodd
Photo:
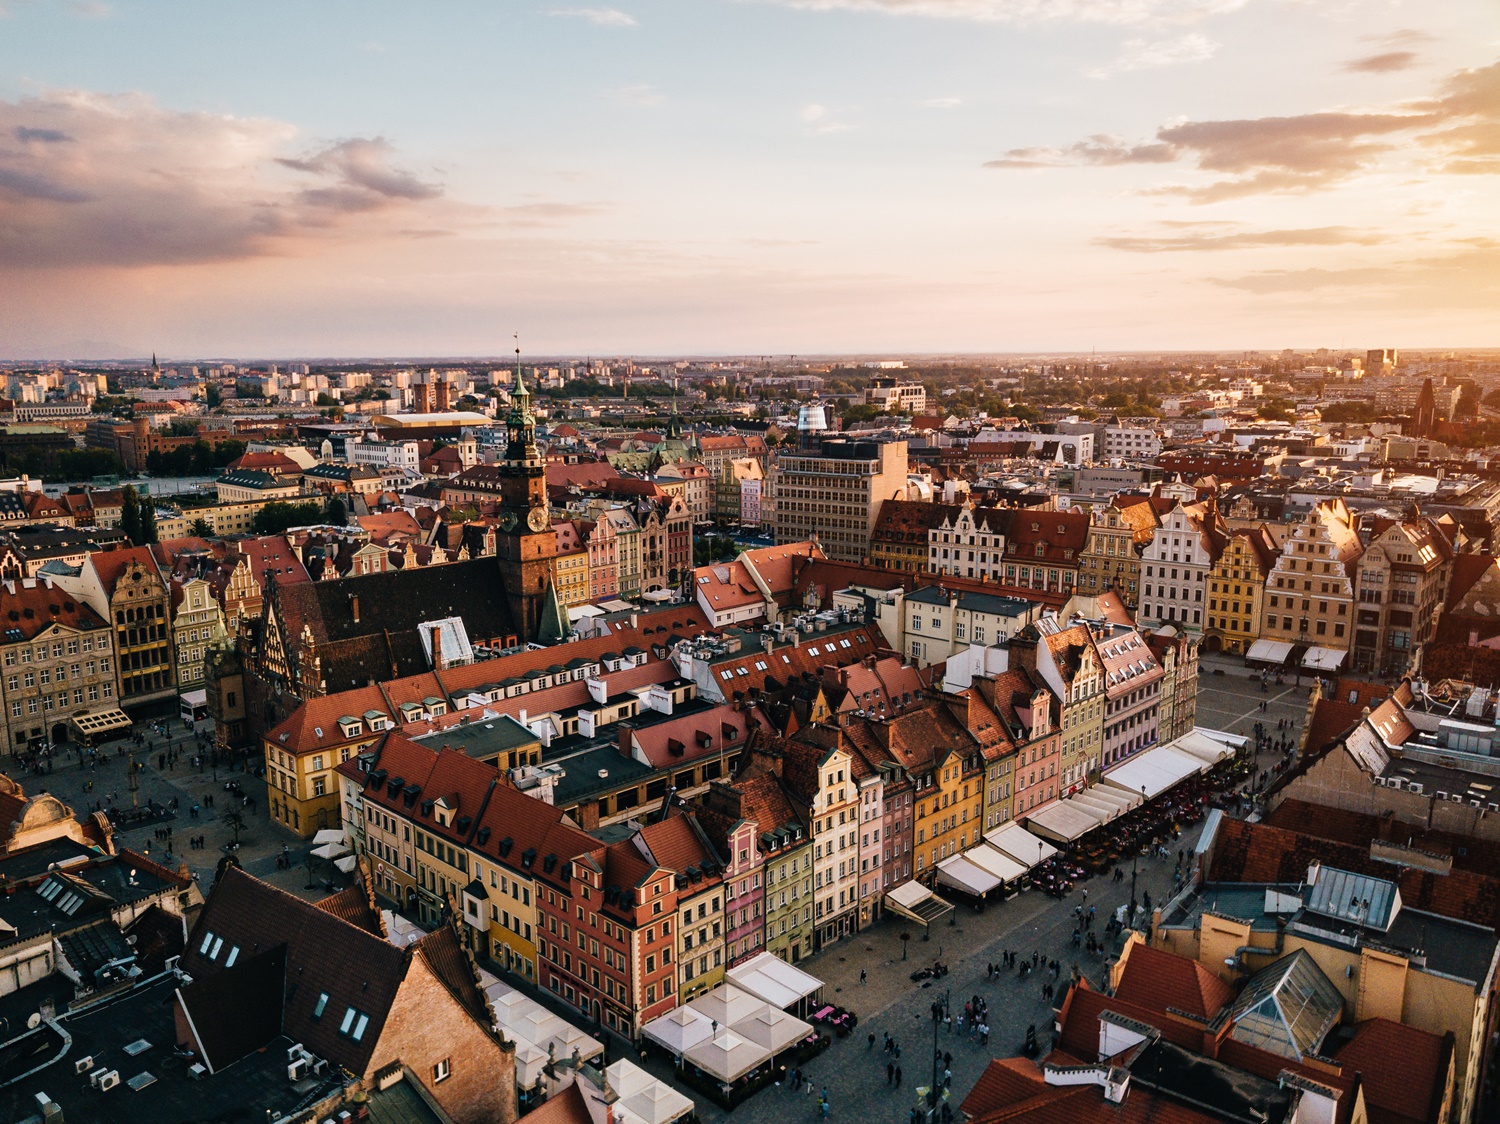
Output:
M1214 675L1212 668L1224 668L1224 675ZM1212 729L1227 729L1239 734L1251 734L1256 720L1264 722L1275 734L1278 719L1288 719L1296 723L1294 729L1282 731L1292 737L1300 734L1306 713L1306 687L1290 684L1276 687L1274 683L1266 693L1260 692L1258 678L1251 678L1238 660L1220 657L1204 659L1206 674L1200 677L1197 723ZM1260 710L1262 699L1268 710ZM294 842L279 830L272 827L267 816L264 786L254 773L236 770L218 770L208 767L195 768L189 764L194 753L194 735L183 729L180 722L172 722L171 746L182 752L180 759L166 770L159 768L159 753L166 749L166 741L160 735L150 735L154 749L138 750L146 768L138 776L140 803L147 800L165 803L177 797L180 810L177 819L171 822L174 842L172 864L186 860L189 869L198 876L204 891L213 881L213 867L225 852L225 846L232 837L226 816L230 812L231 794L224 789L226 782L238 782L255 800L254 807L238 807L244 818L240 828L242 846L238 849L243 866L258 878L274 882L284 890L303 897L318 899L328 893L328 864L322 860L304 861L310 845ZM206 728L207 723L202 723ZM57 767L42 776L22 776L28 792L50 791L69 803L76 812L86 813L94 801L104 803L110 794L118 806L129 806L130 797L126 785L124 756L118 755L122 743L110 743L105 749L108 758L98 768L81 770L76 756L64 755ZM1272 767L1280 758L1276 753L1262 753L1258 765ZM93 786L88 788L88 782ZM216 807L210 809L204 801L214 797ZM200 806L198 819L192 819L189 809ZM1180 848L1191 848L1197 839L1198 828L1184 833L1176 843ZM204 834L207 845L202 849L184 849L184 836ZM134 851L148 852L156 860L165 858L165 843L154 837L153 827L134 828L118 834L122 845ZM290 869L276 864L278 855L286 846L291 857ZM1152 902L1166 900L1172 890L1172 860L1138 860L1137 888L1149 893ZM310 885L310 888L309 888ZM334 882L334 885L342 885ZM1084 888L1088 896L1084 897ZM1029 980L1022 981L1014 972L1005 972L998 978L987 974L988 963L999 963L1004 950L1014 950L1020 956L1030 956L1035 950L1041 957L1060 962L1058 990L1066 981L1072 966L1090 977L1095 983L1104 975L1110 957L1095 957L1071 944L1076 924L1074 908L1092 905L1096 908L1096 930L1102 930L1107 915L1130 900L1131 884L1130 870L1124 882L1110 882L1107 878L1092 878L1070 893L1062 900L1054 900L1040 891L1026 891L1008 902L990 903L982 914L972 908L960 906L948 921L940 921L930 935L924 935L921 926L888 917L876 923L872 929L858 933L840 944L802 962L802 966L825 981L824 998L850 1007L860 1016L860 1026L848 1038L834 1038L831 1047L807 1064L807 1077L813 1092L806 1089L792 1094L786 1086L766 1088L735 1109L736 1121L752 1121L759 1124L784 1124L788 1119L816 1119L818 1094L828 1089L832 1118L906 1121L910 1107L916 1103L916 1088L926 1086L933 1076L933 1022L930 1007L934 998L948 996L951 1004L962 1010L966 999L974 995L988 1002L990 1013L990 1043L981 1046L970 1038L968 1028L960 1032L957 1025L951 1031L938 1031L938 1049L951 1053L951 1103L957 1109L958 1101L969 1091L990 1058L1012 1056L1020 1052L1026 1028L1035 1026L1038 1041L1046 1050L1053 1032L1053 1002L1042 998L1041 987L1052 980L1047 972L1036 972ZM910 941L903 948L900 935L908 932ZM1118 950L1118 942L1110 945L1110 951ZM950 966L950 974L936 981L914 983L910 972L920 966L930 965L940 959ZM860 983L861 968L867 972L867 983ZM528 989L530 990L530 989ZM548 1005L552 996L538 995ZM566 1008L558 1008L567 1016ZM578 1022L578 1014L570 1016ZM594 1028L585 1028L594 1029ZM898 1089L886 1083L886 1062L892 1061L882 1052L882 1035L890 1032L900 1043L902 1085ZM868 1035L874 1034L873 1049ZM627 1043L614 1035L609 1038L609 1058L621 1056ZM664 1058L652 1053L646 1061L646 1068L658 1077L672 1080L672 1065ZM939 1074L944 1065L939 1065ZM720 1124L730 1113L717 1107L694 1089L681 1082L674 1083L698 1103L699 1118L705 1124Z

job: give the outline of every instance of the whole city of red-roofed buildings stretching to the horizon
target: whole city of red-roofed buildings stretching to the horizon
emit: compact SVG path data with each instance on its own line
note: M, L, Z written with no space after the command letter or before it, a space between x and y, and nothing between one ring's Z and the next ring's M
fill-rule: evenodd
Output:
M898 1115L1494 1109L1500 354L4 378L0 872L112 911L27 921L44 1031L171 1008L192 1095L268 1119L770 1112L873 1050L825 987L864 942L1030 887L1102 981ZM1167 896L1095 929L1076 882L1143 855ZM86 1119L108 1073L15 1079Z

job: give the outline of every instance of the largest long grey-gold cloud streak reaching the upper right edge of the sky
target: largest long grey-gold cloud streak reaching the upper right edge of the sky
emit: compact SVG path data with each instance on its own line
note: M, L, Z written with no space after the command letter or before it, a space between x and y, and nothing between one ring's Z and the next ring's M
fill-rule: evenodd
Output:
M1214 179L1162 185L1150 194L1216 203L1328 188L1384 161L1404 165L1406 174L1500 173L1500 63L1458 71L1434 96L1383 110L1188 120L1162 126L1148 143L1095 135L1068 147L1011 149L984 167L1182 164Z

